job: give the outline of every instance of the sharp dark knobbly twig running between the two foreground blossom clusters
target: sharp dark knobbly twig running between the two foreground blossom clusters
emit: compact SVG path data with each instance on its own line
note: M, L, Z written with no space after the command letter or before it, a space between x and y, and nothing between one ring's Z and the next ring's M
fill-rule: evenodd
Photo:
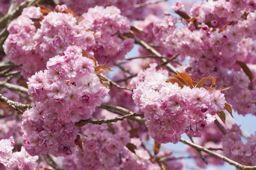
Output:
M76 125L81 125L81 124L85 125L87 123L92 123L94 125L102 125L103 123L113 123L113 122L117 122L117 121L122 121L123 119L136 117L136 116L143 117L144 114L133 113L133 114L127 114L125 116L109 118L109 119L97 119L97 120L85 119L85 120L80 120L79 122L76 123Z

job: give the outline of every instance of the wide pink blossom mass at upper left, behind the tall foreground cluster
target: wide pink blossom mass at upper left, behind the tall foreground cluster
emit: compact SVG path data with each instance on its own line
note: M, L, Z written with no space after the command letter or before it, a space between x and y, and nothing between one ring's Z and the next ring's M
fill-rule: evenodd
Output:
M64 13L67 6L56 6L58 11L43 16L40 7L24 8L22 14L8 26L9 36L3 48L7 57L22 64L22 74L30 77L45 69L46 62L62 55L70 42L94 55L99 63L123 59L133 48L133 39L122 40L116 34L127 33L130 22L114 6L90 8L78 24L76 17Z

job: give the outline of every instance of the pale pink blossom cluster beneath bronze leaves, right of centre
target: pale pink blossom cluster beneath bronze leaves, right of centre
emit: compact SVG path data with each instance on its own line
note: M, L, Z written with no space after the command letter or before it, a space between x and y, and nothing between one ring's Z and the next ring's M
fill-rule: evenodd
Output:
M180 88L167 79L166 74L151 72L134 90L133 99L144 113L149 135L159 143L177 143L185 131L188 136L201 137L197 126L214 122L216 112L224 109L224 94L186 85Z

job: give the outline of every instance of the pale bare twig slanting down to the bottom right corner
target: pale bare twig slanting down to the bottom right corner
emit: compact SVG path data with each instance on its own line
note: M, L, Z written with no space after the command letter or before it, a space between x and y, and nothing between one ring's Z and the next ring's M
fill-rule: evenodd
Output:
M234 165L235 167L239 168L240 170L256 170L256 166L250 167L250 166L245 166L245 165L239 164L239 163L236 162L236 161L233 161L233 160L231 160L231 159L228 159L227 157L222 156L221 154L212 152L212 151L206 149L205 147L202 147L202 146L199 146L199 145L194 144L194 143L192 143L192 142L189 142L189 141L187 141L186 139L181 138L181 139L180 139L180 142L182 142L182 143L184 143L184 144L187 144L187 145L189 145L190 147L193 147L194 149L201 150L201 151L203 151L203 152L209 154L210 156L219 158L219 159L221 159L221 160L223 160L223 161L229 163L230 165Z

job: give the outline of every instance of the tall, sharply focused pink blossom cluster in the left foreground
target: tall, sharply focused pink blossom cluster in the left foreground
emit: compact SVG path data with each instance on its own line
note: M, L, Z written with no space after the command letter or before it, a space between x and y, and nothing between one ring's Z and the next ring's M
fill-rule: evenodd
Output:
M67 156L78 150L79 129L74 124L89 119L109 91L94 67L74 45L63 56L49 59L47 70L29 78L28 94L36 102L23 114L23 143L29 154Z

